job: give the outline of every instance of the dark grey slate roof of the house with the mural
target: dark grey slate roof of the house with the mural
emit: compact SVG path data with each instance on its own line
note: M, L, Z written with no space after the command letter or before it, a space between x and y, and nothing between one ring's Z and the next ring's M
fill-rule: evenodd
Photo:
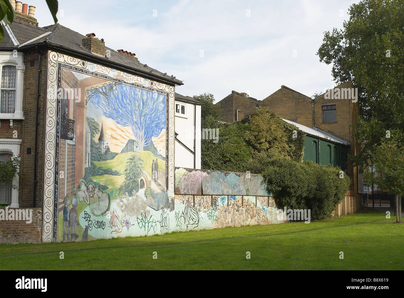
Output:
M44 44L54 48L58 48L61 52L63 52L63 49L65 49L80 53L82 55L86 55L86 57L88 57L88 60L91 60L91 58L93 57L97 60L105 61L105 63L113 63L117 66L117 68L121 66L124 69L133 69L134 72L140 72L145 77L168 81L176 85L183 85L183 82L181 80L168 75L164 76L164 73L162 73L161 71L158 71L147 65L145 66L145 64L125 54L119 53L112 48L108 48L107 46L105 46L105 51L110 51L110 57L105 58L102 55L94 54L87 48L82 47L82 39L86 36L65 26L62 26L59 23L57 25L38 27L29 23L25 23L23 21L14 20L13 23L9 24L9 26L20 45L38 36L41 36L46 32L51 33L36 40L33 40L32 42L29 42L27 44L23 44L20 47L16 47L14 46L11 38L8 36L4 28L4 32L6 33L4 35L8 38L4 38L3 42L0 43L0 48L19 48L21 50L24 50L39 44Z

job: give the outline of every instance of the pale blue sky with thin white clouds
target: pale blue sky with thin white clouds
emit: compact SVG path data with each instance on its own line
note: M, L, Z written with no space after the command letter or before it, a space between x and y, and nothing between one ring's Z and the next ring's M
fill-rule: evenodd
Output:
M45 0L39 26L53 23ZM95 33L114 50L174 75L183 95L232 90L265 99L282 85L309 97L337 84L316 52L325 31L343 28L356 0L59 0L58 22Z

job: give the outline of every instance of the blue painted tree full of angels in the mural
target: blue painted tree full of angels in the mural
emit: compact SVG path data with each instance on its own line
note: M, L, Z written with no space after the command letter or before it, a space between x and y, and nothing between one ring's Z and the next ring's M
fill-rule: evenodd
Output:
M87 91L87 99L117 124L131 128L139 149L166 128L166 96L111 83Z

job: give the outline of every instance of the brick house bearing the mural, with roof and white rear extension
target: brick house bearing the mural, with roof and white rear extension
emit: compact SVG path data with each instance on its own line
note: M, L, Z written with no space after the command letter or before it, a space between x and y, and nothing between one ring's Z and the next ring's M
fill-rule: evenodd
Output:
M174 227L175 161L200 167L200 103L135 54L18 9L0 43L0 158L21 154L4 200L39 212L44 242L163 233L161 216Z

